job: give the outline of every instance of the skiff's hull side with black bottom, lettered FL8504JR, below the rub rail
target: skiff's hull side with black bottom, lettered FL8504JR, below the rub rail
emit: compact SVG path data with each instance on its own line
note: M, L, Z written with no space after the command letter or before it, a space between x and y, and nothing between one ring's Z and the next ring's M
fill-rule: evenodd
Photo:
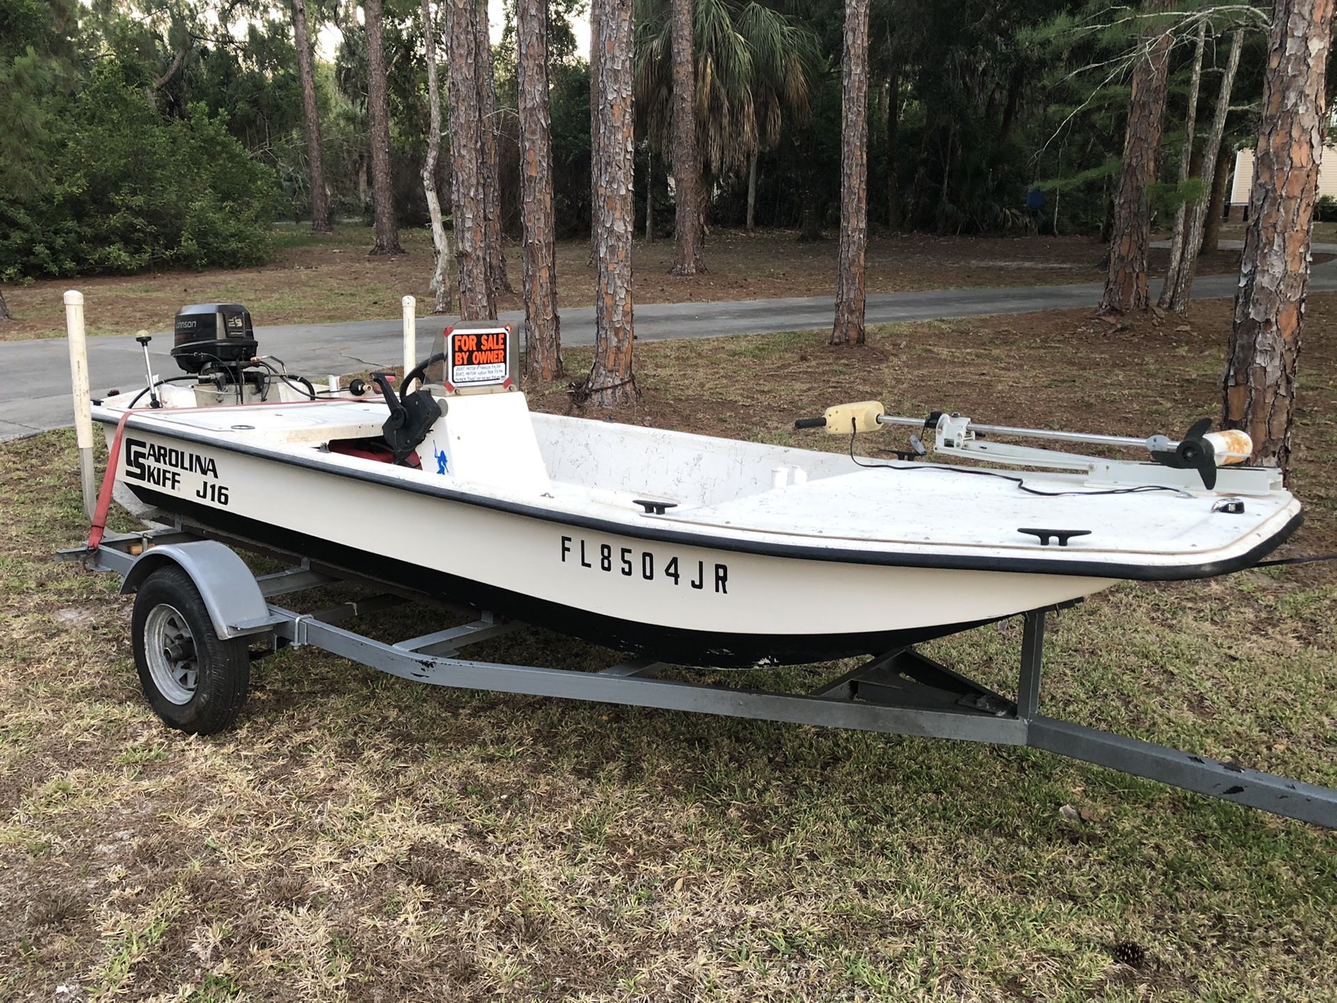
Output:
M147 508L357 574L663 661L869 654L1115 579L763 555L666 543L340 477L136 431L120 485ZM176 451L172 453L171 451ZM136 479L140 453L179 460ZM187 459L189 457L189 459ZM226 493L219 496L219 485ZM412 562L393 555L413 555Z

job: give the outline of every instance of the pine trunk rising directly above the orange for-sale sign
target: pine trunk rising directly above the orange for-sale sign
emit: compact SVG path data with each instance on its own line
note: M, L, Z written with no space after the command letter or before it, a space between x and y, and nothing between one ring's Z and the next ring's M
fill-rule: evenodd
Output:
M491 320L496 316L492 285L488 282L483 127L475 79L479 72L473 28L476 16L475 0L445 0L455 257L460 277L460 316L467 321Z

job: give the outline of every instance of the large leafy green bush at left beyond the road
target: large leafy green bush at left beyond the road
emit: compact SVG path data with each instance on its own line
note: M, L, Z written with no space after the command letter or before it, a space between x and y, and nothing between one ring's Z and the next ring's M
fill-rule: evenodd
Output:
M193 104L160 114L112 64L94 72L47 138L47 170L0 190L0 278L243 267L265 261L274 171Z

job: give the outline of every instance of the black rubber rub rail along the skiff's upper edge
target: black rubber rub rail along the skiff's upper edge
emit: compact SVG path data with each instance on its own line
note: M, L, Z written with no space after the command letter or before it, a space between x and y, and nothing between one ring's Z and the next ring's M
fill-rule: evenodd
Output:
M103 420L103 424L115 423ZM437 484L414 484L412 481L386 476L377 471L356 471L333 467L314 457L273 452L270 449L249 445L246 443L221 443L217 439L211 439L206 435L191 432L189 429L164 431L152 421L136 420L135 416L130 417L126 427L147 432L150 435L159 435L166 439L179 439L187 443L199 443L201 445L207 445L213 449L234 452L242 456L254 456L270 463L281 463L289 467L302 467L325 475L368 481L370 484L381 484L397 491L410 491L416 495L443 497L449 502L477 506L479 508L491 508L499 512L509 512L512 515L521 515L547 523L575 526L582 530L594 530L598 532L630 536L640 540L655 540L659 543L706 547L710 550L722 550L735 554L758 554L767 558L829 560L838 564L880 564L885 567L923 567L944 568L949 571L1003 571L1028 575L1075 575L1080 578L1118 578L1130 582L1181 582L1195 578L1215 578L1217 575L1229 575L1234 571L1250 568L1290 539L1292 534L1300 528L1300 524L1304 520L1304 512L1296 512L1296 515L1280 531L1235 558L1230 558L1227 560L1203 562L1201 564L1177 564L1173 567L1102 560L1052 560L1048 558L996 558L988 555L837 550L833 547L765 543L759 540L738 539L735 536L707 536L703 534L663 530L654 524L634 526L608 519L594 519L591 516L574 515L570 512L556 512L539 506L520 504L519 502L481 497L479 495L472 495L465 491L455 491Z

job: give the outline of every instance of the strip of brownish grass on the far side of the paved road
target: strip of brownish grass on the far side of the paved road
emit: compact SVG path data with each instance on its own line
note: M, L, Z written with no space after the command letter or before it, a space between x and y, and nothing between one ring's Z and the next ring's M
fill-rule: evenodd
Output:
M400 316L400 297L410 293L429 305L432 242L425 230L404 230L408 254L372 258L370 230L340 227L317 237L305 226L278 230L273 261L235 271L163 271L79 280L43 280L5 285L4 297L19 320L0 325L0 340L64 334L62 294L76 286L96 296L91 334L124 334L144 328L162 330L183 304L243 302L255 324L361 321ZM638 304L762 300L787 296L834 296L834 239L800 243L794 233L765 231L749 237L714 230L706 242L709 271L693 278L667 274L673 241L636 241L635 297ZM520 290L519 245L507 246L511 281ZM1052 285L1104 278L1103 249L1084 237L876 237L868 249L868 290L889 293L996 285ZM1152 251L1154 270L1165 270L1167 251ZM1222 251L1202 262L1202 271L1233 271L1238 251ZM594 302L595 271L588 241L558 243L558 278L563 306ZM505 296L500 310L521 309L519 296ZM420 306L420 313L428 306Z

